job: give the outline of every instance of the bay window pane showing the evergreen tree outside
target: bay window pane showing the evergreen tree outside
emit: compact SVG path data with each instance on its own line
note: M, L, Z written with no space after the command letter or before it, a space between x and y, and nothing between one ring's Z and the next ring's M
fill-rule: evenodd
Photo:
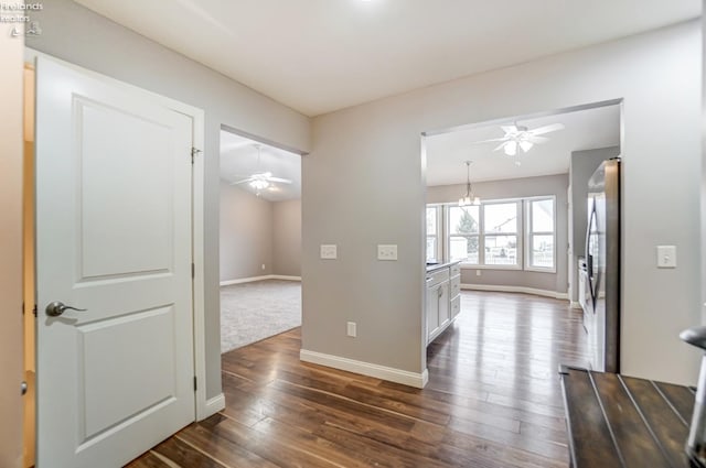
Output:
M449 259L480 263L480 206L449 206Z

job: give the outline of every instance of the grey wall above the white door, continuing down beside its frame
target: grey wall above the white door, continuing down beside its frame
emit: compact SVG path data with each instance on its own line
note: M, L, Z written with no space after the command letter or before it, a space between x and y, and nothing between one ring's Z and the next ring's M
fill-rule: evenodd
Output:
M26 45L205 111L204 261L206 398L221 393L218 198L221 126L279 146L308 152L310 120L183 55L165 48L69 0L31 12L42 34Z

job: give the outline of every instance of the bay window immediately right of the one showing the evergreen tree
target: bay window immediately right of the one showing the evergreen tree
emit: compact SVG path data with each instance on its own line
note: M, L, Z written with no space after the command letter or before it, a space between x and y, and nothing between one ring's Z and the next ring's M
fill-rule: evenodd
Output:
M483 263L486 265L516 265L517 203L483 205Z

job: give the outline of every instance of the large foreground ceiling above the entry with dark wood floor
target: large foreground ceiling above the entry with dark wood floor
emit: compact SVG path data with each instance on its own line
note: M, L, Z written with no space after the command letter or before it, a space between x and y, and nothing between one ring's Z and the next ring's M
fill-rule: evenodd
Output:
M696 18L699 0L76 0L307 116Z

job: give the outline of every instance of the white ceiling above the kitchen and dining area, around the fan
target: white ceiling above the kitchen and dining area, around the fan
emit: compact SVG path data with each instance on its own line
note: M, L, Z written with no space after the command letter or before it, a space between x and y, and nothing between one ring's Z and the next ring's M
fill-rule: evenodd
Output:
M556 122L565 126L564 130L544 134L549 141L535 144L527 153L518 150L517 155L507 156L502 150L493 151L499 142L477 143L503 137L500 126L514 121L494 121L427 137L427 186L464 184L466 161L473 161L471 182L565 174L569 171L573 151L620 144L620 106L617 105L533 119L517 118L517 123L530 130Z

